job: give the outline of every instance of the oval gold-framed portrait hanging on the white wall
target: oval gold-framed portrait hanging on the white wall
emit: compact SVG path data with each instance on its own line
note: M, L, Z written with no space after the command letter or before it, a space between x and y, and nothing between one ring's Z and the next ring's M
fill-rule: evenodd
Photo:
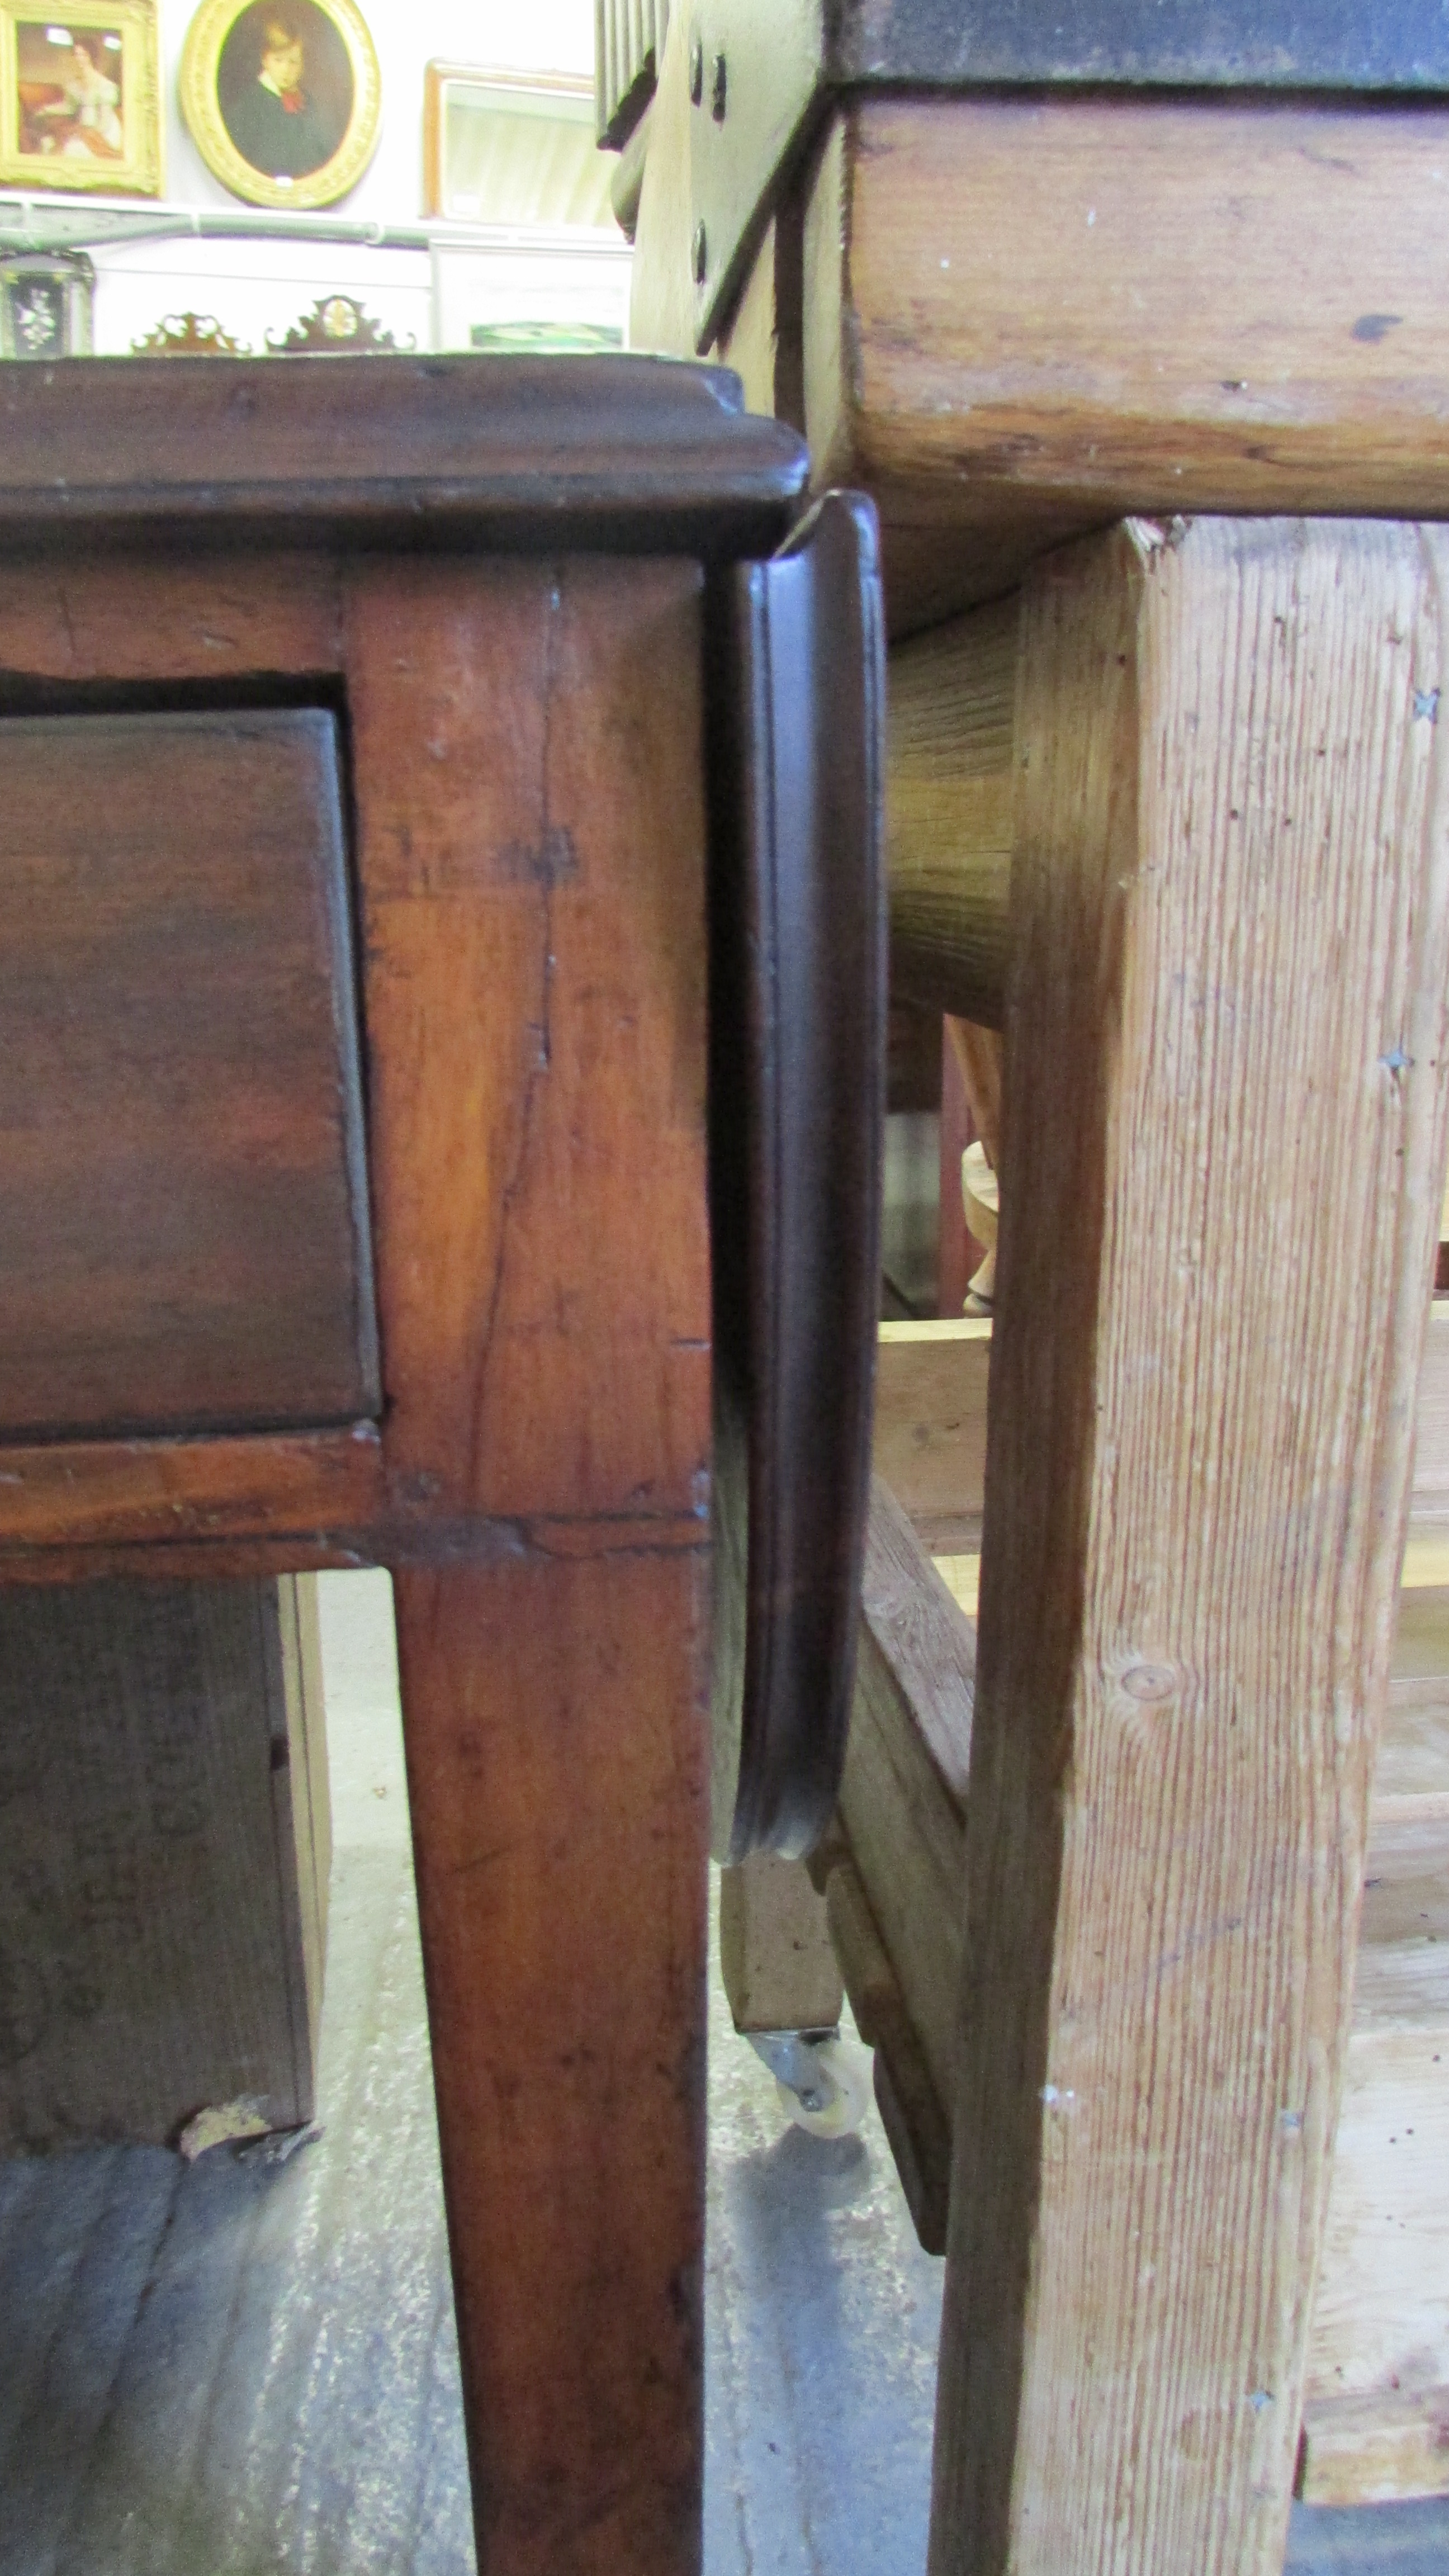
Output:
M180 113L248 206L335 206L382 134L382 72L353 0L201 0Z

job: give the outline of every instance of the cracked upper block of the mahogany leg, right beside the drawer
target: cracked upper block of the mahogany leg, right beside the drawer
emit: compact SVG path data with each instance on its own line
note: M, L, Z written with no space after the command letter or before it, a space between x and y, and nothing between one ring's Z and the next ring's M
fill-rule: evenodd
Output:
M704 1510L699 569L358 567L348 672L392 1507Z

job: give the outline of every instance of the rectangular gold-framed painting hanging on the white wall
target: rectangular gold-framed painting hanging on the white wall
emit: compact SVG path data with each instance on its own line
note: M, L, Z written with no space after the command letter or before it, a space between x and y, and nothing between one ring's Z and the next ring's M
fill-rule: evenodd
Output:
M155 0L0 0L0 183L160 196Z

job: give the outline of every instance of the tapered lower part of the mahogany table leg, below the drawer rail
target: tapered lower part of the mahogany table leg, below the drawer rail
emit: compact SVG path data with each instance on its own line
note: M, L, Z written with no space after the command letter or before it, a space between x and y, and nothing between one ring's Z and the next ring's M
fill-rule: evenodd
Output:
M704 1595L397 1577L482 2576L699 2566Z

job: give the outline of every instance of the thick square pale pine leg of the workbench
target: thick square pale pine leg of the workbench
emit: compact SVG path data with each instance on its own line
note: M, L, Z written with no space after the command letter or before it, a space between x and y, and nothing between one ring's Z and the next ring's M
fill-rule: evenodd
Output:
M1269 2576L1444 1180L1441 531L1034 574L933 2576Z

